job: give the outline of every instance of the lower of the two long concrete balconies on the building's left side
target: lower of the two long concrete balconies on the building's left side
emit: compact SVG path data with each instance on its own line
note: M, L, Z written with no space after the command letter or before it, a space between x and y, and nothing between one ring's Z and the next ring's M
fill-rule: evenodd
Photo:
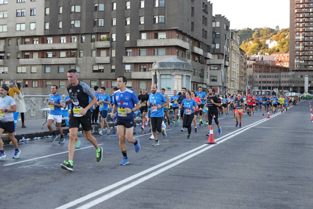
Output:
M65 58L38 58L38 59L19 59L20 65L57 65L57 64L76 64L75 57Z

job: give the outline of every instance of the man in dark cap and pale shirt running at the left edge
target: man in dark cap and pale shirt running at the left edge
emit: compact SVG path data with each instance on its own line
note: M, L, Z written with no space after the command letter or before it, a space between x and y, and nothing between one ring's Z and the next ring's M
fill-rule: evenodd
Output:
M0 159L7 156L3 150L1 138L4 131L8 132L9 139L15 147L13 158L18 158L19 154L21 154L21 150L18 149L18 140L14 136L13 112L16 112L16 104L8 92L9 87L7 85L0 86Z

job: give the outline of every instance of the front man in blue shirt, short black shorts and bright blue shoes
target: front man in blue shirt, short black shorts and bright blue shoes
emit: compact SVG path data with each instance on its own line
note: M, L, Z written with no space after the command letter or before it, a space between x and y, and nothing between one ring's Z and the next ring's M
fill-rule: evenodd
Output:
M141 104L135 92L126 88L126 83L127 79L125 76L119 76L117 78L117 87L120 89L114 93L114 106L111 113L111 118L114 118L114 114L117 111L115 125L119 136L119 145L123 154L123 159L120 162L120 165L126 165L129 163L125 137L129 143L134 144L136 152L139 152L140 150L139 138L133 137L133 133L135 123L134 112L141 108Z

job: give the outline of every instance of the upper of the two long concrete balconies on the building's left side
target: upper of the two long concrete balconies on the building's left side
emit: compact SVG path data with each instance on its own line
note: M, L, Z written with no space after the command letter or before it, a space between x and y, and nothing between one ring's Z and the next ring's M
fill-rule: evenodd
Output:
M78 49L78 43L57 43L57 44L20 44L20 51L36 50L59 50L59 49Z

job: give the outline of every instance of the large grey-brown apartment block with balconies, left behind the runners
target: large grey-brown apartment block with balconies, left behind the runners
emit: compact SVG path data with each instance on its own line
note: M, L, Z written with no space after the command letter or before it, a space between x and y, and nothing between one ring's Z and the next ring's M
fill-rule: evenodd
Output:
M75 68L91 87L150 88L151 69L176 58L191 65L186 86L209 84L212 4L193 0L0 0L0 82L14 77L27 94L66 93L66 72ZM228 27L227 27L228 29ZM222 45L222 44L221 44ZM173 75L174 74L174 75ZM175 71L159 73L169 92Z

